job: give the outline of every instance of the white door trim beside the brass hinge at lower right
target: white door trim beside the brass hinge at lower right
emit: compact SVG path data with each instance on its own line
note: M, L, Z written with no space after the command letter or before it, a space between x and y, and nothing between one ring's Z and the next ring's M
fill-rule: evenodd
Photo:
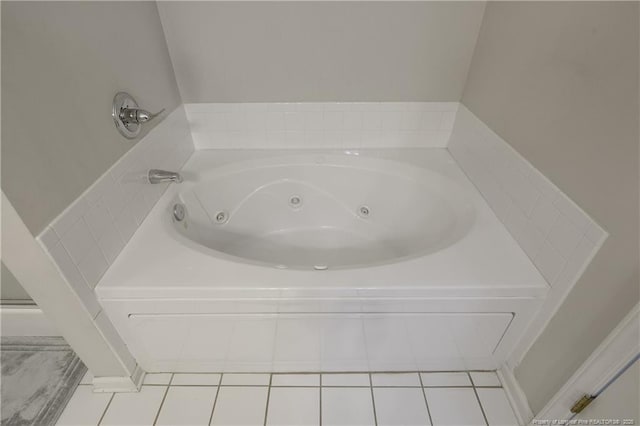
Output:
M637 304L567 383L538 413L538 420L566 420L571 406L594 394L640 352L640 303Z

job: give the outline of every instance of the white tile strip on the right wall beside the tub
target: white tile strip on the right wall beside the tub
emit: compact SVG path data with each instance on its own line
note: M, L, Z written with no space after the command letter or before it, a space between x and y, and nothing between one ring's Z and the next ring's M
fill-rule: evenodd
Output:
M448 149L551 286L532 343L608 233L462 104Z

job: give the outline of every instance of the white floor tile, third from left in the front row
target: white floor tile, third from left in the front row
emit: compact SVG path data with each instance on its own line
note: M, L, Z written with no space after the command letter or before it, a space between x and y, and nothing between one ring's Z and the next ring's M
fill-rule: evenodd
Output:
M162 403L157 425L207 425L218 388L171 386Z

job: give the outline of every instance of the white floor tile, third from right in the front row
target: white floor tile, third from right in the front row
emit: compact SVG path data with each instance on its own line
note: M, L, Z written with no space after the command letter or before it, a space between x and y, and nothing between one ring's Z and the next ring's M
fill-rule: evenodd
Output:
M421 388L374 388L378 426L429 425L429 413Z

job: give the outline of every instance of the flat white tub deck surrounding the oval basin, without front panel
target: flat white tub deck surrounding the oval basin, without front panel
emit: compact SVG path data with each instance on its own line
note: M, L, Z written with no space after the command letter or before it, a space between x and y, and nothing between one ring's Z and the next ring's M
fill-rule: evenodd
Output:
M234 161L336 151L196 151L185 179ZM358 151L436 170L468 189L476 220L457 243L424 257L379 266L280 270L211 256L167 232L171 185L96 287L109 299L541 298L548 284L446 149Z

